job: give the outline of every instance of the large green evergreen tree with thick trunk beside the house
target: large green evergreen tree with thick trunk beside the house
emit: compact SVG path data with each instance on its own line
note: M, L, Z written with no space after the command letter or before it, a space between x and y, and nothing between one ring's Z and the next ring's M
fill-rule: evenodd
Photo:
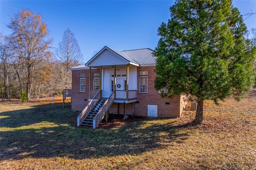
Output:
M204 100L240 100L255 76L256 48L245 34L232 0L176 0L170 19L158 28L155 88L168 89L163 97L194 97L197 123L203 121Z

